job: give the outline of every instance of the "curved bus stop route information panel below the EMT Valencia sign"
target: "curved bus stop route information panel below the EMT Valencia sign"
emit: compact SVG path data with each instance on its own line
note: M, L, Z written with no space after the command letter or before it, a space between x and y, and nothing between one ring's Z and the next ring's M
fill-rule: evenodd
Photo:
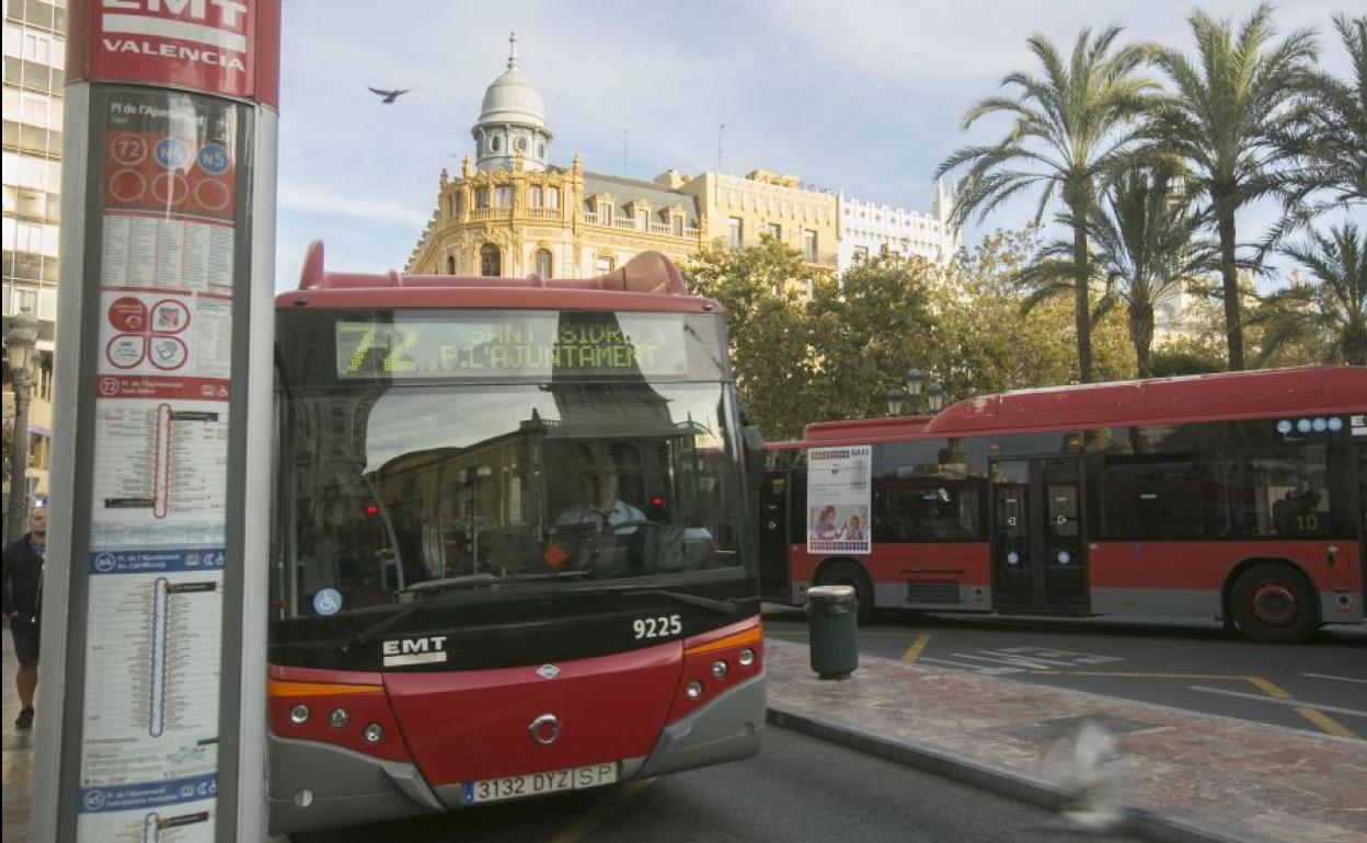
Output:
M241 107L107 108L78 839L212 840Z

